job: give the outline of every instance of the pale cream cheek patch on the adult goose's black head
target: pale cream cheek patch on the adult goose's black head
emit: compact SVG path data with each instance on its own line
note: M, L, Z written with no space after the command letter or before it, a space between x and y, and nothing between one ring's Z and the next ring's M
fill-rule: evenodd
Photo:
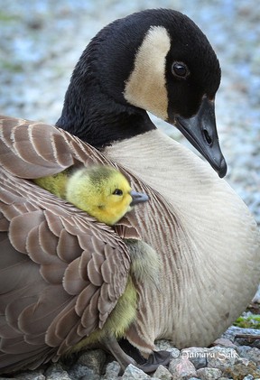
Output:
M135 107L167 119L166 55L171 41L163 26L151 26L135 55L135 68L125 82L125 99Z

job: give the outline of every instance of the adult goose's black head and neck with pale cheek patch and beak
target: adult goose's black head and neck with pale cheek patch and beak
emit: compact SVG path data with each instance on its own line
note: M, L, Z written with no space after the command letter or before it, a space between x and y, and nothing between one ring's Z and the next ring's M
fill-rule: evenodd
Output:
M189 17L151 9L110 23L83 51L57 125L97 148L155 129L146 111L176 126L218 172L217 56Z

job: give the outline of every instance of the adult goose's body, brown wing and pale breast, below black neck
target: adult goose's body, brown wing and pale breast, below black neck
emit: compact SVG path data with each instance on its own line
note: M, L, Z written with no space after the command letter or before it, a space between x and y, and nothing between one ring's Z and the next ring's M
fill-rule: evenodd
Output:
M253 297L255 222L228 184L180 144L153 130L100 153L54 126L7 117L0 135L1 366L56 360L104 326L129 273L122 237L142 238L162 263L160 291L136 283L138 314L126 338L141 352L151 352L155 338L209 345ZM115 230L29 181L94 162L119 168L150 197Z

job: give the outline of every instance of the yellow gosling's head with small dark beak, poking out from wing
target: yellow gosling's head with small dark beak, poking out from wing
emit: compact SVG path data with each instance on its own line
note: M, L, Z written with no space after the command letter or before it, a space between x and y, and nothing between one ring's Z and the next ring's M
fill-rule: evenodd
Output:
M65 198L108 226L113 226L137 203L148 200L146 194L131 189L120 171L108 166L74 171L68 179Z

